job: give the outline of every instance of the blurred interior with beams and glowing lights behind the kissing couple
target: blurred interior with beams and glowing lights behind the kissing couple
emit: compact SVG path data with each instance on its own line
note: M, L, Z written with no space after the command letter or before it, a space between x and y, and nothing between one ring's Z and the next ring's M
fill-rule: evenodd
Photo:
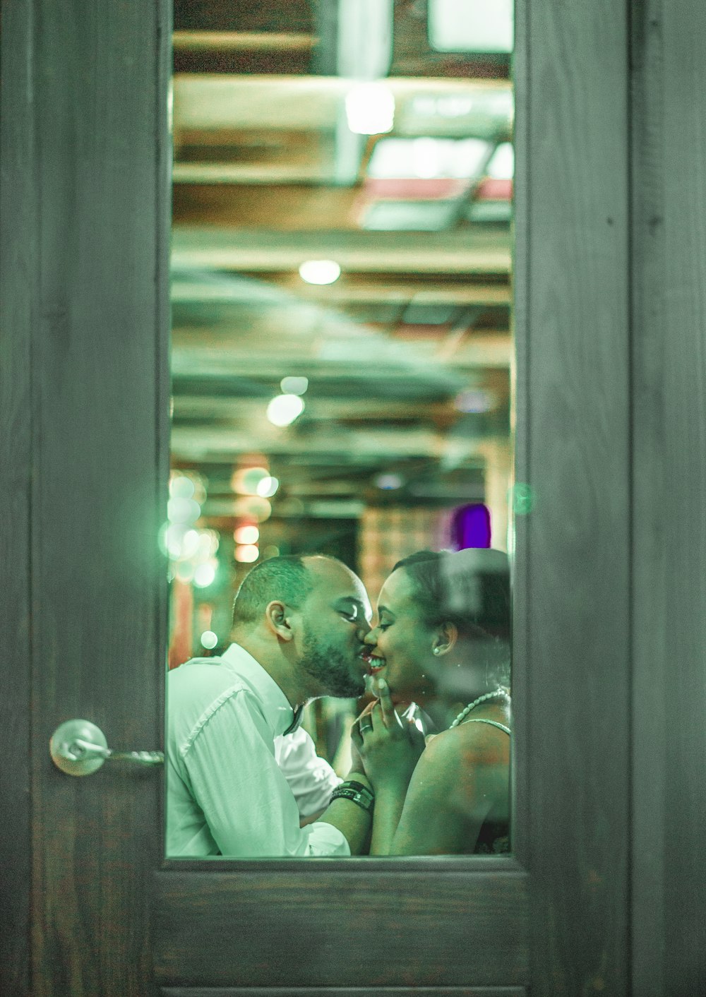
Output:
M506 0L176 0L171 667L262 558L374 605L508 549L512 45ZM355 707L309 708L329 759Z

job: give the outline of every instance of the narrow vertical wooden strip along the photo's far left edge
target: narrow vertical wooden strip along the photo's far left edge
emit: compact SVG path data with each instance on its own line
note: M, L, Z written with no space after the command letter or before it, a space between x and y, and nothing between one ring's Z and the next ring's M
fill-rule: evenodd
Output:
M36 319L37 204L32 187L31 7L2 7L0 33L0 993L21 997L30 973L31 335Z

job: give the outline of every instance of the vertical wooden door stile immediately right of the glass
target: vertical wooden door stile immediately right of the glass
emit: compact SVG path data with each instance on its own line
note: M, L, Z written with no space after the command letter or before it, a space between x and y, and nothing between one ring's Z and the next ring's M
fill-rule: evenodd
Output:
M628 992L627 6L519 7L514 712L532 994ZM519 789L520 792L520 789ZM524 803L523 803L524 801Z

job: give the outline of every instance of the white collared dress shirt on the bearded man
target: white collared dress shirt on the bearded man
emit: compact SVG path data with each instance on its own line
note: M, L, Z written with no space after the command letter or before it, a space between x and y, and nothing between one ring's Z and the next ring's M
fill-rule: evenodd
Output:
M350 854L332 825L299 827L274 748L291 723L282 690L237 644L169 673L169 855Z

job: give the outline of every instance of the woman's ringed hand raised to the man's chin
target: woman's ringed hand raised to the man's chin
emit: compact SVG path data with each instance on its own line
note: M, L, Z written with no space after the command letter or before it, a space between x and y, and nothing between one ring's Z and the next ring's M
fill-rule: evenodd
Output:
M383 787L407 788L424 751L424 736L412 721L396 713L384 679L378 680L380 699L369 703L353 725L353 744L376 792Z

